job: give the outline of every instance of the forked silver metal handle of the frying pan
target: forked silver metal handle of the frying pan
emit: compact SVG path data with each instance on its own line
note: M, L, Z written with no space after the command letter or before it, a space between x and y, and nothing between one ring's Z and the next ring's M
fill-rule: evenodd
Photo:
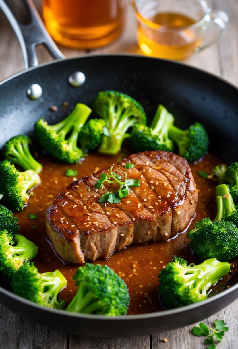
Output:
M17 22L16 17L4 0L0 0L0 9L16 34L22 50L25 69L38 65L36 46L40 44L46 46L53 58L65 58L47 32L32 0L24 0L24 2L31 18L30 23L26 25Z

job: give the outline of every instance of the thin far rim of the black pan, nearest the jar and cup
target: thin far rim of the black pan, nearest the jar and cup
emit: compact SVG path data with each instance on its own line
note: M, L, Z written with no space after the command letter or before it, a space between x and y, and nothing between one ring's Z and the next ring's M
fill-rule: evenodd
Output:
M216 74L213 74L213 73L210 73L206 70L203 70L201 68L198 68L198 67L194 67L192 65L189 65L185 62L180 62L180 61L176 61L176 60L172 60L172 59L163 59L163 58L157 58L157 57L149 57L149 56L145 56L145 55L142 55L142 54L135 54L135 53L104 53L104 54L99 54L99 53L95 53L95 54L83 54L81 56L77 56L77 57L68 57L68 58L61 58L61 59L56 59L56 60L53 60L53 61L50 61L50 62L44 62L42 64L39 64L35 67L30 67L28 69L23 69L23 70L20 70L20 72L14 74L14 75L11 75L9 77L7 77L6 79L0 81L0 86L2 84L4 84L5 82L8 82L9 80L12 80L14 79L15 77L18 77L24 73L27 73L27 72L30 72L32 70L35 70L37 68L42 68L44 66L49 66L51 64L57 64L59 62L62 62L62 61L69 61L69 60L76 60L76 59L80 59L80 58L90 58L90 57L107 57L107 56L115 56L115 57L133 57L133 58L144 58L144 59L151 59L151 60L158 60L158 61L164 61L164 62L168 62L168 63L174 63L176 65L181 65L181 66L185 66L187 68L190 68L190 69L195 69L195 70L198 70L204 74L207 74L207 75L210 75L212 77L215 77L216 79L219 79L225 83L227 83L228 85L230 85L231 87L235 88L236 90L238 90L238 86L236 86L235 84L229 82L228 80L224 79L223 77L219 76L219 75L216 75Z

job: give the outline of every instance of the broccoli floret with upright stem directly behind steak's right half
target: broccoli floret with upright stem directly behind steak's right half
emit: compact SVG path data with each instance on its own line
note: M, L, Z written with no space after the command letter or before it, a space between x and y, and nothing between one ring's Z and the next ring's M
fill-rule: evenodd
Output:
M173 151L169 139L169 127L174 117L159 104L150 126L136 124L131 132L130 145L134 151L166 150Z

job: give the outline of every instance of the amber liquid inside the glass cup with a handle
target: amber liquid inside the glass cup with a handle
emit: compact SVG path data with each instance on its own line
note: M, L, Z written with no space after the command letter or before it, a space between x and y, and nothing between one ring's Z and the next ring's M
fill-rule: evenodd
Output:
M137 39L141 51L159 58L188 58L201 41L195 30L189 28L194 23L192 18L177 13L158 13L139 21Z

